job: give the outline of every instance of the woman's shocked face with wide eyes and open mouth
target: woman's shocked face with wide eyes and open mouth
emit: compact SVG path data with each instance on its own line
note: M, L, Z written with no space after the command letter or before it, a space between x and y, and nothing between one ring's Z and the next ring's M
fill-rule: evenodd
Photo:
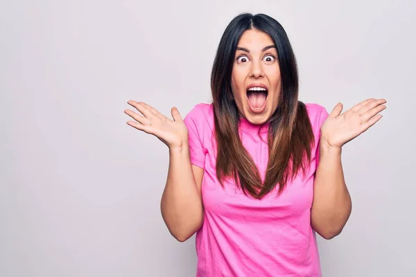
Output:
M241 116L265 123L277 109L281 89L277 48L260 30L246 30L237 44L232 69L232 93Z

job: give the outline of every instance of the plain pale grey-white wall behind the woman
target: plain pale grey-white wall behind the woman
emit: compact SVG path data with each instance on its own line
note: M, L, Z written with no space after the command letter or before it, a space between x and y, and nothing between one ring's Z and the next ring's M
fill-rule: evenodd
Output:
M177 242L159 211L168 149L123 111L209 102L240 12L284 26L300 100L388 100L343 150L353 211L319 238L324 276L415 274L414 1L3 0L0 276L195 276L194 237Z

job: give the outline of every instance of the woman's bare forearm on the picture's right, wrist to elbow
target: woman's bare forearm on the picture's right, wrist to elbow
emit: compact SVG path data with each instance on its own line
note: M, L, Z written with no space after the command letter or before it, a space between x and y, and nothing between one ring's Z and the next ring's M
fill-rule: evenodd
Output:
M311 211L313 229L330 239L344 228L352 203L345 184L341 150L320 144L320 161L315 174Z

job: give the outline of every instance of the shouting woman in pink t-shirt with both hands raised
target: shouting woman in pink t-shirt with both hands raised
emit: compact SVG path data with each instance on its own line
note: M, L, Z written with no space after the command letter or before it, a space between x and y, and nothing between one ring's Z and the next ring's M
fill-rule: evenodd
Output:
M128 124L169 148L161 209L171 234L196 233L197 276L321 276L315 232L351 213L341 148L380 118L385 100L341 114L297 100L295 55L267 15L235 17L220 39L211 104L182 120L130 100Z

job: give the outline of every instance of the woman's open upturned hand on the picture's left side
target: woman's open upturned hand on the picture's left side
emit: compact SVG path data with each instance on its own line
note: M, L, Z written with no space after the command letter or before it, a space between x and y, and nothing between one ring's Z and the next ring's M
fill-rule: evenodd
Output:
M135 107L141 113L138 114L135 111L126 109L124 111L125 114L128 114L136 120L128 121L128 125L147 134L153 134L170 149L181 148L187 144L188 129L176 107L171 109L173 117L173 120L171 120L144 102L130 100L128 104Z

